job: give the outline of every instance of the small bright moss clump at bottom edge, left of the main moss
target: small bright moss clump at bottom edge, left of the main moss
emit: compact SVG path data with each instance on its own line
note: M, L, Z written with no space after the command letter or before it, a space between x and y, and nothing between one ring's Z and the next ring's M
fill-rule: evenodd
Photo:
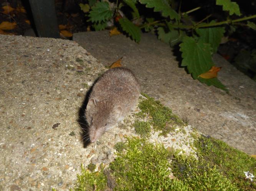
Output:
M99 172L90 172L81 166L81 175L77 175L75 191L106 190L107 178L103 173L103 166Z

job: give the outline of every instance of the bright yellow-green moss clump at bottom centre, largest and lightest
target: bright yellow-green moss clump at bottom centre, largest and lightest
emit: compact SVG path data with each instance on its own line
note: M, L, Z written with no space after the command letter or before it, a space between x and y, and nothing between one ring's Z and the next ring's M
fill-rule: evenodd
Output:
M126 151L118 152L109 168L116 177L115 190L187 190L188 185L170 179L170 153L145 139L127 139Z

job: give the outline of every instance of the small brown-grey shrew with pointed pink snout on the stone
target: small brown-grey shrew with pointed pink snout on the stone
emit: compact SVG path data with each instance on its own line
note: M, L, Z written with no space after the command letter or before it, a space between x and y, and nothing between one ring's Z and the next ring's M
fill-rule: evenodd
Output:
M92 87L86 107L91 142L114 127L137 104L140 86L127 68L107 70Z

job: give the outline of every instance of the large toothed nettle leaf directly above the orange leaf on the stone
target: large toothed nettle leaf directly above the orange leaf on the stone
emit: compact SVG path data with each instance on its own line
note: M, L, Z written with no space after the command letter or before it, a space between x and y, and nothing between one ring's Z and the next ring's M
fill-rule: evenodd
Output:
M193 79L206 71L209 71L214 65L211 58L211 45L206 44L203 40L196 40L193 37L183 37L180 44L182 52L182 66L187 66L188 72L192 74Z

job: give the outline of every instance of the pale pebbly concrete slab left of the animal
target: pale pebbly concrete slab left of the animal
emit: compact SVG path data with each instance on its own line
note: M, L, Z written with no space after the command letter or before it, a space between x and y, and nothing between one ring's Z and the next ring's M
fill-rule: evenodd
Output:
M83 148L79 108L106 68L69 40L0 41L0 190L68 190L94 148Z

